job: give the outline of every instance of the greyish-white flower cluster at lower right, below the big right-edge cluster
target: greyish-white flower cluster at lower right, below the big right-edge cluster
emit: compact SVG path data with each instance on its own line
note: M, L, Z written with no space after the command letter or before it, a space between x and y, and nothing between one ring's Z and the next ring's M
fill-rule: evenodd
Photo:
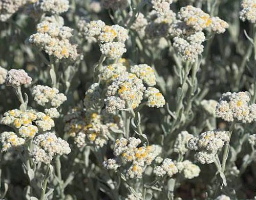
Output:
M188 148L197 151L195 159L202 164L214 162L218 150L229 141L229 132L213 130L201 133L188 141Z

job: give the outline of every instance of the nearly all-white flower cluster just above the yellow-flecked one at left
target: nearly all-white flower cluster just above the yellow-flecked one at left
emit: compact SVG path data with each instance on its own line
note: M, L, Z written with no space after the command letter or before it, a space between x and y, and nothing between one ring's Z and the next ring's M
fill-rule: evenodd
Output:
M67 97L59 93L59 90L56 88L51 88L44 85L36 85L33 88L32 95L34 101L40 106L44 107L54 107L58 108L63 102L67 101ZM46 112L50 115L55 116L54 114L56 109L47 109Z

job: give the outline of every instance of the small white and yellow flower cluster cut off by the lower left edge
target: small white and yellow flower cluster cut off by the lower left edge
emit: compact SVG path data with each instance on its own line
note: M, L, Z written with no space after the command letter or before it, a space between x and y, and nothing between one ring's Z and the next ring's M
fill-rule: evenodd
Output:
M0 135L1 151L6 152L11 149L19 150L25 143L25 139L18 137L14 132L3 132Z

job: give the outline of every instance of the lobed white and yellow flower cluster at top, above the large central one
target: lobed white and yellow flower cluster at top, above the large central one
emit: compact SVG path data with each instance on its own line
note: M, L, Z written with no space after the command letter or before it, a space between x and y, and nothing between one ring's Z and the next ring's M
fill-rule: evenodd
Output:
M124 42L128 39L128 32L119 25L108 26L103 21L90 21L81 19L78 28L80 34L90 39L94 37L100 47L100 52L109 58L120 58L126 48Z

